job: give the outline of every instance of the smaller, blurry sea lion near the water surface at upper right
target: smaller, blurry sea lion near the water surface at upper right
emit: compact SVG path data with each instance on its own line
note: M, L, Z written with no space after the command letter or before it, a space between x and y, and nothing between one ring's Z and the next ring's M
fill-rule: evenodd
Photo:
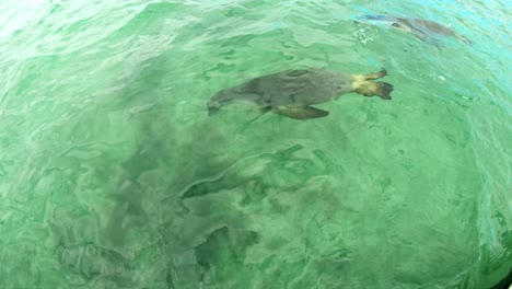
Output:
M472 45L473 43L455 33L451 27L441 25L437 22L423 20L423 19L408 19L397 18L379 14L366 14L359 16L360 20L379 21L386 23L394 28L412 33L416 37L423 42L439 46L439 39L437 37L455 37L463 41L465 44Z

